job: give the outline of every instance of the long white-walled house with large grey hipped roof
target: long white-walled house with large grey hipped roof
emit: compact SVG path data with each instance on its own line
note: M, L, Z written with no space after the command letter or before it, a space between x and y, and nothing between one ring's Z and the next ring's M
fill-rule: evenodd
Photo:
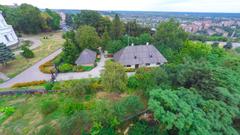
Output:
M125 67L154 67L167 62L153 45L127 46L114 54L113 59Z

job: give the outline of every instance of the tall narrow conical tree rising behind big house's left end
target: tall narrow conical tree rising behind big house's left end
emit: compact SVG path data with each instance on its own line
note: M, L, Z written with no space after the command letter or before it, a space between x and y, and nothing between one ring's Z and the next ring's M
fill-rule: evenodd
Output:
M112 39L120 39L123 34L124 34L124 24L121 22L118 14L115 15L113 22L112 22L112 27L111 27L111 36Z

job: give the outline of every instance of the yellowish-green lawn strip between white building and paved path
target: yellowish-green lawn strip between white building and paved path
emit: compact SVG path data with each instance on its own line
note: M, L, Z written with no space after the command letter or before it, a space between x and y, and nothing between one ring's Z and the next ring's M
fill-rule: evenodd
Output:
M64 39L62 38L62 32L54 32L48 34L39 34L42 45L33 50L35 57L32 59L25 59L21 55L17 55L16 59L9 62L7 66L0 66L0 71L6 74L9 78L13 78L25 69L29 68L39 60L47 57L57 49L62 47ZM48 39L43 39L47 36Z

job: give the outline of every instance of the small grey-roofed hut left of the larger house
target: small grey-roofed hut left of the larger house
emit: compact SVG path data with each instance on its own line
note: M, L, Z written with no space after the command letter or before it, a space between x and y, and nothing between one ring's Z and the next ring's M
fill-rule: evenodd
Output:
M96 56L96 52L84 49L75 61L75 64L78 66L93 66L95 64Z

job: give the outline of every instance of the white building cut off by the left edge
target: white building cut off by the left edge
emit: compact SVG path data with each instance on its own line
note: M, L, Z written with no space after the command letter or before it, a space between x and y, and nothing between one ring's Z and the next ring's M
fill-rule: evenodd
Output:
M11 47L18 43L18 38L11 25L8 25L0 11L0 43Z

